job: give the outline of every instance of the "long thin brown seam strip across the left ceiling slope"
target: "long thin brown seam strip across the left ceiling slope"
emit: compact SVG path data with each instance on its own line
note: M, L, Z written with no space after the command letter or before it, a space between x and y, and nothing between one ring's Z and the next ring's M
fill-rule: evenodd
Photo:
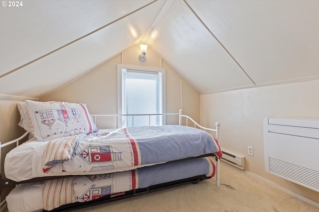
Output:
M13 70L11 70L11 71L8 71L8 72L6 72L6 73L0 75L0 78L2 78L3 76L8 75L8 74L10 74L10 73L13 73L13 72L15 72L15 71L18 71L19 69L22 69L23 67L26 67L26 66L28 66L28 65L30 65L30 64L32 64L32 63L34 63L34 62L36 62L36 61L38 61L38 60L40 60L40 59L42 59L42 58L45 58L46 56L51 55L51 54L53 54L53 53L55 53L55 52L57 52L57 51L59 51L59 50L65 48L65 47L67 47L67 46L69 46L69 45L71 45L71 44L73 44L73 43L75 43L75 42L77 42L77 41L79 41L79 40L85 38L85 37L88 37L89 35L92 35L92 34L98 32L98 31L100 31L101 29L104 29L105 27L107 27L107 26L109 26L109 25L111 25L111 24L113 24L113 23L115 23L115 22L117 22L117 21L119 21L119 20L122 20L123 18L128 17L129 15L131 15L131 14L133 14L133 13L135 13L135 12L137 12L137 11L139 11L139 10L141 10L141 9L143 9L143 8L145 8L145 7L149 6L149 5L151 5L151 4L153 4L153 3L156 2L156 1L158 1L158 0L154 0L154 1L152 1L152 2L150 2L150 3L148 3L148 4L146 4L146 5L144 5L144 6L140 7L140 8L138 8L138 9L136 9L136 10L134 10L134 11L132 11L132 12L130 12L130 13L128 13L128 14L122 16L122 17L119 17L118 19L116 19L116 20L114 20L114 21L111 21L111 22L108 23L108 24L105 24L104 26L101 26L100 28L98 28L98 29L96 29L96 30L94 30L94 31L92 31L92 32L89 32L88 34L83 35L83 36L80 37L80 38L77 38L77 39L75 39L75 40L73 40L73 41L71 41L71 42L69 42L69 43L67 43L67 44L65 44L65 45L63 45L63 46L61 46L61 47L59 47L59 48L57 48L57 49L55 49L55 50L53 50L53 51L47 53L47 54L45 54L45 55L42 55L41 57L38 57L38 58L36 58L36 59L34 59L34 60L32 60L32 61L26 63L26 64L23 64L22 66L19 66L18 68L15 68L15 69L13 69Z

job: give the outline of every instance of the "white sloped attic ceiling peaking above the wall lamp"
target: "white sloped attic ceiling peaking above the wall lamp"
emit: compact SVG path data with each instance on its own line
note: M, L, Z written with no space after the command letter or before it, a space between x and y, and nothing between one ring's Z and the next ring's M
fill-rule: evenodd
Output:
M0 7L0 95L37 98L140 42L199 92L319 79L318 0L25 0Z

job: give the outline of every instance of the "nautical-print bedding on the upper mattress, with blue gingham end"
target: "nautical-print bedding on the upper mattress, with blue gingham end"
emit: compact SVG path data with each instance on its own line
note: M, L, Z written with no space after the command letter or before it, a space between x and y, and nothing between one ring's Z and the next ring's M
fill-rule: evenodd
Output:
M52 143L31 140L12 149L5 157L5 176L23 181L45 176L103 174L221 152L213 137L191 127L108 129L84 137L70 159L54 164L44 172L47 161L43 152Z

